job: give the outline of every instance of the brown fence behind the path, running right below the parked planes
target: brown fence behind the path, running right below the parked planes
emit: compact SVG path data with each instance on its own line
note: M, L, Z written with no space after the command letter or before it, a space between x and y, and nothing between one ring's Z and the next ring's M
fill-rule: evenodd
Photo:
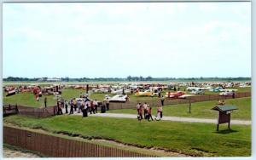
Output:
M250 97L250 92L244 93L236 93L235 98L241 97ZM186 99L166 99L165 105L177 105L177 104L184 104L184 103L191 103L194 102L201 102L201 101L209 101L209 100L225 100L225 99L232 99L232 96L221 96L218 94L201 94L195 96L189 96ZM136 108L137 103L144 103L147 102L150 106L158 106L160 105L160 100L136 100L136 101L127 101L125 103L118 103L118 102L110 102L109 109L116 110L116 109L132 109Z

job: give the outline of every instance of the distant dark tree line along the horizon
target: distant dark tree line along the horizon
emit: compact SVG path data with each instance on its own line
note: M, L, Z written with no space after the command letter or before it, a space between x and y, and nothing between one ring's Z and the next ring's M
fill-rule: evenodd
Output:
M182 82L182 81L251 81L251 77L80 77L80 78L71 78L71 77L61 77L55 78L59 79L61 82L140 82L140 81L171 81L171 82ZM3 78L3 81L9 82L32 82L32 81L48 81L48 77L7 77Z

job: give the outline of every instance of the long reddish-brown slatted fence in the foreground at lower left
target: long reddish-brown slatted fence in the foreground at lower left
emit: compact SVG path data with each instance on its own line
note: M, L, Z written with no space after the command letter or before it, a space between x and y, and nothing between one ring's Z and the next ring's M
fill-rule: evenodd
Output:
M38 151L47 157L155 157L116 147L101 146L79 140L68 140L25 129L3 127L3 142Z

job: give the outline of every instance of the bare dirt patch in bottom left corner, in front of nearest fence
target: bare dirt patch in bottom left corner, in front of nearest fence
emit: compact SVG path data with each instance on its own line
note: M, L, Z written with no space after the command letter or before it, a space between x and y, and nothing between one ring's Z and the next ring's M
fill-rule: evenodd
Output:
M16 151L7 147L3 147L3 157L39 157L36 154L26 151Z

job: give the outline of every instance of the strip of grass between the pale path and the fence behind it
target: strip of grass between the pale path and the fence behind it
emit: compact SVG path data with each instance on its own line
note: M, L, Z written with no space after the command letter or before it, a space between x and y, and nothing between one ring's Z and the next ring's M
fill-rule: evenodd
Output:
M238 110L231 113L232 119L251 119L251 97L225 100L227 105L237 106ZM191 104L191 113L189 113L189 104L169 105L163 107L164 116L174 117L204 117L217 118L218 111L211 110L216 106L217 100L196 102ZM153 115L156 114L156 108L153 107ZM108 111L111 113L129 113L137 114L136 106L134 109L120 109Z

